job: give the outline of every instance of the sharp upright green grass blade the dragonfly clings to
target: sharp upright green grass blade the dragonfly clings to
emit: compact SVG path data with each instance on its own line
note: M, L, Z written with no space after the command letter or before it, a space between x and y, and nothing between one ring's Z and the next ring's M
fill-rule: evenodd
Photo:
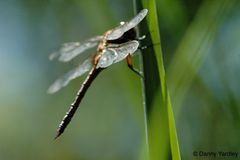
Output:
M145 45L149 45L147 44L149 42L151 44L160 44L153 45L151 50L146 49L142 55L142 71L144 73L142 82L144 86L148 154L150 160L159 160L159 158L178 160L181 157L171 100L167 90L155 3L155 0L135 0L134 3L137 12L142 8L149 10L147 27L146 24L139 25L141 33L147 34L149 32L151 35L151 38L147 37L146 41L144 41ZM169 156L170 152L171 155Z

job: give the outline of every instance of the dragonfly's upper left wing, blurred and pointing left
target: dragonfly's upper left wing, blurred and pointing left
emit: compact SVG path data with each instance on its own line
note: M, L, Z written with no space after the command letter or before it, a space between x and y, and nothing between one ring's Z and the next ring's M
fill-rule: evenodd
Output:
M68 62L75 58L80 53L83 53L87 49L93 48L98 45L98 42L102 39L102 36L96 36L90 39L87 39L83 43L79 42L70 42L64 43L59 51L53 52L49 55L49 59L53 60L58 57L58 60L61 62Z

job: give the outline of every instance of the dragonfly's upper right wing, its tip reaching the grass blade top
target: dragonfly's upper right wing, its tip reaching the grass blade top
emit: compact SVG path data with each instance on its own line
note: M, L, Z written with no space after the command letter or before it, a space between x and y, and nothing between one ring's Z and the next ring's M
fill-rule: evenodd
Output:
M129 22L125 22L123 25L120 25L114 28L108 35L107 40L115 40L120 38L126 31L130 30L131 28L135 27L140 23L143 18L147 15L148 10L143 9L141 10L133 19Z

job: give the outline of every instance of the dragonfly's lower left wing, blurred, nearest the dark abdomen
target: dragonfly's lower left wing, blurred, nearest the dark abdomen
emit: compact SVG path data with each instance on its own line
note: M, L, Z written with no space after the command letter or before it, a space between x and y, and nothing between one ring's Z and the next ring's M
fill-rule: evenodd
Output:
M80 77L92 68L92 58L85 60L75 69L66 73L63 77L57 79L48 89L48 93L55 93L62 87L65 87L71 80Z

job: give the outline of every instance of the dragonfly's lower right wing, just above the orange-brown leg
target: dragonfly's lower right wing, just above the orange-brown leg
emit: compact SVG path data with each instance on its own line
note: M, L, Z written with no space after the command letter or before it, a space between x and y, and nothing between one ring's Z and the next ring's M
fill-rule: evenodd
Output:
M136 40L122 44L109 45L102 53L98 61L97 68L106 68L114 63L117 63L127 57L128 54L133 54L139 46Z

